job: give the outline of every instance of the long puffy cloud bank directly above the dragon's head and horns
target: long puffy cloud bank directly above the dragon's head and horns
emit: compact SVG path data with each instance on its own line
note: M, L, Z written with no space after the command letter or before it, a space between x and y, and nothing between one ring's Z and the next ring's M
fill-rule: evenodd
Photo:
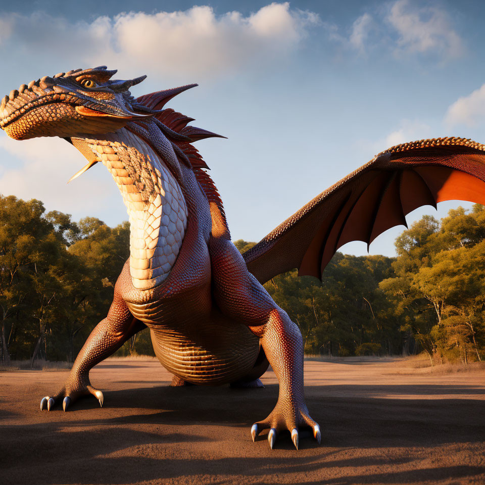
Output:
M201 6L154 14L120 13L91 23L70 23L45 13L10 14L4 21L11 30L2 35L13 40L13 49L49 52L55 45L57 63L62 61L65 69L80 67L70 66L72 59L84 67L109 60L131 72L165 78L176 72L200 79L274 65L298 47L319 18L290 9L289 3L272 3L249 16L216 15L211 7Z

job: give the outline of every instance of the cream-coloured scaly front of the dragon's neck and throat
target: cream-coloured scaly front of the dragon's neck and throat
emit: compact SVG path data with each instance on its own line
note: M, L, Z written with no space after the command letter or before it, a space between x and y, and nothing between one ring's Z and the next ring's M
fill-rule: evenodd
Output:
M120 189L130 220L133 286L159 285L177 259L187 227L187 206L177 180L161 157L125 128L100 139L71 141L91 163L101 161Z

